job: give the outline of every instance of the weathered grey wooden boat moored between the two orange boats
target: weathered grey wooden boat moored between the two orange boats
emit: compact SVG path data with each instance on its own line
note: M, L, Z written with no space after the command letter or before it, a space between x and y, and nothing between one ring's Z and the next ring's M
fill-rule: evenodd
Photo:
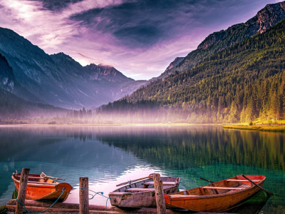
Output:
M162 180L164 193L177 192L180 178L160 177ZM117 185L118 186L118 185ZM121 188L109 193L111 205L127 208L155 207L155 187L152 174L145 178L140 178L126 182Z

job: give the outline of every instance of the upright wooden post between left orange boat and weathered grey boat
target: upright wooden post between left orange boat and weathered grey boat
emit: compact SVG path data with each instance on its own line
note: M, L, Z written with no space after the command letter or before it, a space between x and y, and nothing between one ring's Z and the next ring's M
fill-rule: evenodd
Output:
M88 199L88 178L79 178L79 213L89 214L89 199Z

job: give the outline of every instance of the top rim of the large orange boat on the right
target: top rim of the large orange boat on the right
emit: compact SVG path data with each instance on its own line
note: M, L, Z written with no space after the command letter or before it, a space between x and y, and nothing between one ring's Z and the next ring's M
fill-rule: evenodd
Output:
M251 175L247 175L247 176L251 176ZM256 175L254 175L254 176L256 176ZM258 185L260 185L261 183L264 183L264 181L266 180L265 175L261 175L261 176L264 178L262 180L260 180L259 183L257 183ZM219 180L219 181L221 181L221 180ZM219 181L217 181L217 182L219 182ZM244 181L250 182L249 180L246 180L246 179ZM215 183L217 183L217 182L215 182ZM234 182L234 181L231 181L231 182ZM237 182L241 182L241 181L237 181ZM203 186L201 186L201 188L204 186L208 186L208 185L203 185ZM233 191L232 193L226 192L226 193L220 193L220 194L214 194L214 195L180 195L180 194L175 194L175 193L165 194L165 195L167 195L170 198L170 203L168 203L168 204L172 205L171 204L172 200L187 200L187 199L198 200L198 199L220 198L220 197L224 197L226 195L236 195L238 193L245 192L246 190L251 190L252 188L258 188L258 187L256 185L252 184L252 186L249 186L248 188L244 188L243 190ZM195 189L195 188L192 188L192 189ZM192 189L189 189L189 190L192 190ZM184 191L186 191L186 190L184 190ZM180 191L180 192L184 192L184 191ZM177 197L175 197L175 196L177 196Z

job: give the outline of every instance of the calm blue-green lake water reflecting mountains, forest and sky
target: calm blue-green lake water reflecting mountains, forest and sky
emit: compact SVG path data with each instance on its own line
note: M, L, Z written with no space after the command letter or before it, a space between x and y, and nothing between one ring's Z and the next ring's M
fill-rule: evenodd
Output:
M199 177L243 173L266 175L264 188L276 194L266 202L259 192L234 213L285 213L284 143L284 133L221 126L1 126L0 205L11 199L11 174L21 168L66 178L76 188L67 203L78 203L80 176L108 195L116 184L154 172L181 177L180 189L207 185ZM96 195L89 203L106 199Z

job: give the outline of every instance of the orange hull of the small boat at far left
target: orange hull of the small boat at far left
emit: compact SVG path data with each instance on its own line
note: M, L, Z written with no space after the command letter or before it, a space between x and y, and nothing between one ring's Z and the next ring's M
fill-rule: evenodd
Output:
M36 176L36 175L33 175ZM16 191L19 191L20 182L14 175L12 175L14 180ZM63 192L64 190L64 192ZM57 200L58 202L63 202L68 198L69 193L72 190L72 186L68 183L31 183L28 181L26 188L26 199L28 200Z

